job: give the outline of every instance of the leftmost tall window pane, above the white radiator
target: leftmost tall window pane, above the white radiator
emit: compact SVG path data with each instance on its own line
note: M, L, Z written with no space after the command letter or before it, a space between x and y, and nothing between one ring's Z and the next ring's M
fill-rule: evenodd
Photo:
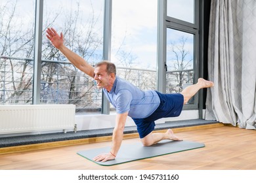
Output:
M35 2L0 2L0 105L31 104Z

